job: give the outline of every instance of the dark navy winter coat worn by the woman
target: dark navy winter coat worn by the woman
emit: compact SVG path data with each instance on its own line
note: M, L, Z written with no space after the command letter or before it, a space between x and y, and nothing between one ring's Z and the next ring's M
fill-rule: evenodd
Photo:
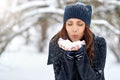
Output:
M92 64L83 48L77 59L69 59L66 51L50 41L48 65L53 64L55 80L105 80L106 41L94 36L94 59Z

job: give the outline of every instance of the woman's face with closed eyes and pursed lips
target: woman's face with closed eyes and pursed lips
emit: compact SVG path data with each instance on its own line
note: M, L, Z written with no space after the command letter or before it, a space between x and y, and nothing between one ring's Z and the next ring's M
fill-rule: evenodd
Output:
M77 18L70 18L66 22L66 30L72 41L80 40L85 31L85 23Z

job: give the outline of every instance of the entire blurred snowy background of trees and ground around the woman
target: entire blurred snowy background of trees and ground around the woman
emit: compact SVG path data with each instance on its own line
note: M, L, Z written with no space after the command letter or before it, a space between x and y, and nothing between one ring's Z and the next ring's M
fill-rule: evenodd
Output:
M106 80L120 80L120 0L1 0L0 80L54 80L48 42L78 1L93 6L91 30L107 41Z

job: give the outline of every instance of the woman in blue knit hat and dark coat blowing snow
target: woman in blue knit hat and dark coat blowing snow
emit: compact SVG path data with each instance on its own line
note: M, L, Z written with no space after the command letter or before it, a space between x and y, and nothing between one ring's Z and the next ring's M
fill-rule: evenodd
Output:
M106 41L89 29L91 14L87 4L65 7L63 28L49 43L55 80L105 80Z

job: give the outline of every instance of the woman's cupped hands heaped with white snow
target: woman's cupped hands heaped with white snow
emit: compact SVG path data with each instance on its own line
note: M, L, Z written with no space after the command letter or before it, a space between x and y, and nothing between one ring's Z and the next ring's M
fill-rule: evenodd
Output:
M68 39L64 40L62 38L59 38L58 45L60 48L66 51L77 51L82 47L82 45L85 45L85 41L78 40L78 41L71 42Z

